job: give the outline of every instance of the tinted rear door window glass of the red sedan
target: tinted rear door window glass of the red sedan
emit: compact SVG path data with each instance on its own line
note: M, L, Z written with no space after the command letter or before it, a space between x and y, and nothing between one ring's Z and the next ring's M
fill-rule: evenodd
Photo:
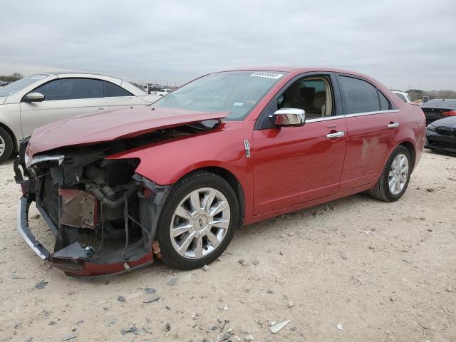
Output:
M347 114L367 113L380 110L377 88L358 78L340 76L346 98Z

